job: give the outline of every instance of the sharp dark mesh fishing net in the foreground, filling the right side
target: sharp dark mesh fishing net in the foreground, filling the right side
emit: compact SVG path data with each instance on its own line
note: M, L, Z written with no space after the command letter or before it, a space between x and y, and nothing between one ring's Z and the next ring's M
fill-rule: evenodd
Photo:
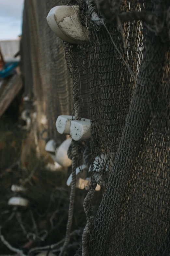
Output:
M165 10L170 3L113 1L110 20L120 13L116 25L90 20L96 11L93 1L68 4L80 6L82 23L91 32L84 47L90 79L92 186L84 201L87 225L77 255L168 255L169 47L168 36L158 33L168 26ZM156 28L135 19L121 26L121 14L130 11L154 13ZM97 183L106 184L106 191L92 221Z

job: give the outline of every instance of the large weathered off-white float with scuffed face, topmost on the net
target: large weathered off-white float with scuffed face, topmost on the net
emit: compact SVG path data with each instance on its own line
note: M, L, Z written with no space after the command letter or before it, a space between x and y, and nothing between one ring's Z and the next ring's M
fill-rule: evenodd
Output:
M63 41L68 43L89 42L89 31L81 24L78 6L56 6L47 16L51 30Z

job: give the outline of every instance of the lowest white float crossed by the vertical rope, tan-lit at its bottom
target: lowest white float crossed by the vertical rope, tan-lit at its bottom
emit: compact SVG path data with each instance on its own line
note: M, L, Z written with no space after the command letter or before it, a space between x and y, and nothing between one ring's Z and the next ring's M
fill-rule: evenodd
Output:
M84 189L85 186L88 185L88 181L86 180L87 177L87 170L86 165L80 165L76 168L76 187L79 189ZM69 178L67 179L67 186L71 186L72 182L72 174L70 174Z

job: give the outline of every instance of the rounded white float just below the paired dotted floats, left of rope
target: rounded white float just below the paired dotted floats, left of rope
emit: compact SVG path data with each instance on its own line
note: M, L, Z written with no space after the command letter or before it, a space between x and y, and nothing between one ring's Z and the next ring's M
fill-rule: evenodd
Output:
M55 159L63 167L69 167L72 164L72 160L70 160L67 156L67 150L71 145L72 139L66 139L56 150Z

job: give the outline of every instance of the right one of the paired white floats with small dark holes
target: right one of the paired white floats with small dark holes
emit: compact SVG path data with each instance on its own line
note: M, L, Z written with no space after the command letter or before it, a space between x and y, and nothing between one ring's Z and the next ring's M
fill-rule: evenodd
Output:
M70 135L75 141L89 139L90 119L80 118L80 120L72 120L70 125Z

